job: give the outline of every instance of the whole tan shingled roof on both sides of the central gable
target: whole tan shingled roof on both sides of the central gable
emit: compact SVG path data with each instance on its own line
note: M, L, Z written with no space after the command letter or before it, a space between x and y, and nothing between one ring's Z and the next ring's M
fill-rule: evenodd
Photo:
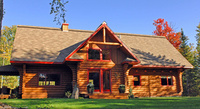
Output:
M63 62L94 31L17 27L11 61ZM141 61L140 65L193 66L163 36L115 33ZM73 58L81 57L75 55Z

